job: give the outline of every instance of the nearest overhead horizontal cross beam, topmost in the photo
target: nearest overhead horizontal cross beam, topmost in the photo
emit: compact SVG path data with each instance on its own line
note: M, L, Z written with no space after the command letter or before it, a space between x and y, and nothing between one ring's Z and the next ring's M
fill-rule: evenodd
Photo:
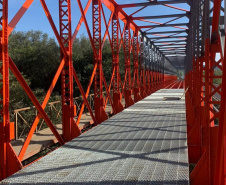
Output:
M164 5L164 4L182 4L187 3L190 4L188 0L181 0L181 1L153 1L153 2L143 2L143 3L131 3L131 4L120 4L120 8L132 8L132 7L139 7L139 6L154 6L154 5Z

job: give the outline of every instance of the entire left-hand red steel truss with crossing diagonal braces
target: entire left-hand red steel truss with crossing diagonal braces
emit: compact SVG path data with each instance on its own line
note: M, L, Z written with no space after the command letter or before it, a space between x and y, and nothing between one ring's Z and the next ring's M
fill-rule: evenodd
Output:
M112 106L113 113L117 114L125 107L131 106L134 102L141 100L160 88L167 87L169 84L177 80L177 69L173 65L172 61L169 60L170 57L165 56L159 49L159 46L157 47L154 45L154 42L147 37L147 34L149 33L142 31L142 27L137 26L133 22L133 19L122 10L123 5L118 5L114 0L88 0L86 6L83 8L81 0L77 0L77 6L80 9L81 17L76 29L72 32L71 23L73 18L71 15L71 0L59 0L60 28L58 32L45 0L40 0L46 18L51 25L61 51L60 65L58 66L43 102L40 103L8 54L8 37L32 3L33 0L26 0L15 17L8 23L8 11L10 11L8 0L0 0L0 5L2 6L0 8L0 22L2 27L0 31L0 48L2 53L0 67L0 180L23 168L21 162L23 161L25 152L41 118L45 120L60 145L63 145L81 134L78 125L85 106L89 110L93 124L97 125L108 119L109 115L105 111L108 102L110 102L110 105ZM176 1L171 4L175 3ZM86 17L86 13L90 6L92 7L92 20L88 20ZM103 6L106 6L111 11L108 22L105 17ZM138 6L143 5L140 4ZM171 5L166 6L171 7ZM169 17L174 16L175 15ZM183 14L178 16L189 17L187 13L186 15ZM88 21L92 21L92 29L89 27ZM120 26L119 21L123 22L124 27ZM79 81L72 60L72 46L81 24L83 23L92 45L94 66L86 91L83 89ZM106 27L104 37L102 37L102 24ZM168 23L164 23L165 26L178 26L167 24ZM186 31L187 30L185 30L185 32ZM112 77L110 82L106 82L102 68L102 49L107 37L112 49ZM171 41L169 45L170 44L174 43ZM125 55L125 76L123 80L120 77L119 69L119 51L121 48L123 48ZM130 58L131 54L133 55L133 61L131 61ZM131 74L130 63L133 63L133 74ZM11 70L13 75L15 75L38 112L19 155L15 154L13 147L10 144L14 139L14 123L11 123L9 118L9 70ZM62 136L57 132L53 122L45 112L45 107L60 77L62 89ZM80 112L77 115L76 109L78 107L73 103L74 81L83 97L83 103L80 107ZM87 100L92 84L94 84L95 94L94 113ZM103 94L104 89L107 92L106 97L104 97ZM122 105L122 98L125 99L125 107ZM74 119L75 116L77 116L76 120Z

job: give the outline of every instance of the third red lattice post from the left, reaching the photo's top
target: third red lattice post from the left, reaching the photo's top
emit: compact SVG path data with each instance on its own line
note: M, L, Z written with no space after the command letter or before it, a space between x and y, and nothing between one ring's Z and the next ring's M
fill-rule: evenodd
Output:
M94 102L95 102L95 116L97 123L100 124L106 119L108 115L104 110L103 98L103 73L102 73L102 39L101 39L101 0L92 1L92 15L93 15L93 43L94 43L94 64L97 64L97 70L94 79Z

